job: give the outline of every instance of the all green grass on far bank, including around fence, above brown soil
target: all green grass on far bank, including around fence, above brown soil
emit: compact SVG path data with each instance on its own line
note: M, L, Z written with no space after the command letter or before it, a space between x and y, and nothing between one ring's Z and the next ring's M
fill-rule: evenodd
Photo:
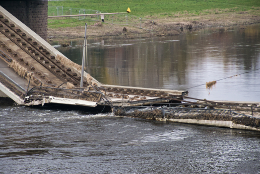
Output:
M180 15L206 15L218 14L226 12L236 12L245 10L256 10L260 8L260 0L55 0L48 1L48 15L69 15L71 8L72 14L83 13L77 8L92 9L101 12L126 12L130 7L130 15L140 16L149 19L176 17ZM57 9L52 6L63 6ZM85 13L95 13L95 11L85 11ZM106 19L112 21L111 16L106 16ZM129 17L129 21L135 20L134 17ZM92 18L95 19L95 16ZM106 20L105 19L105 20ZM136 18L137 19L137 18ZM100 19L99 19L100 20ZM125 15L117 15L114 22L125 21ZM108 20L106 20L108 21ZM51 28L58 27L75 27L82 26L86 20L77 20L73 18L65 18L63 20L49 18L48 25ZM87 21L88 24L94 24L95 21Z

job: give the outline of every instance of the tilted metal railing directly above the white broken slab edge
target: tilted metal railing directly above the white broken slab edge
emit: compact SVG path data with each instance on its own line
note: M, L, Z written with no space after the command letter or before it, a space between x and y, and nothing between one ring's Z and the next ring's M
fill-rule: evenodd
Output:
M86 101L98 102L101 100L102 93L75 89L62 89L55 87L33 87L26 96L41 95L54 96L60 98L80 99Z

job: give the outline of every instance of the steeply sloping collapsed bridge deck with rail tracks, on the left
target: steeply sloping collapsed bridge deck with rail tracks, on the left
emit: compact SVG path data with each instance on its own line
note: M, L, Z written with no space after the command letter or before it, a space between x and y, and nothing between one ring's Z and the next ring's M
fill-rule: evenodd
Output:
M0 6L0 90L20 105L173 102L188 91L103 85ZM178 101L179 102L179 101Z

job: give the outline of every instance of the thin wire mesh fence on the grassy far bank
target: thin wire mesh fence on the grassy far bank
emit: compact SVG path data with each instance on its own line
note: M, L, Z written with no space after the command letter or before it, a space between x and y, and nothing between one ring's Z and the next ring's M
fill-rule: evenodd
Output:
M62 16L62 15L76 15L76 14L97 14L107 13L105 11L84 9L84 8L70 8L64 6L48 6L48 16ZM101 15L88 16L73 16L78 20L92 20L101 22ZM130 14L110 14L104 15L104 22L116 25L130 25L142 29L153 30L154 21L151 19L134 16Z

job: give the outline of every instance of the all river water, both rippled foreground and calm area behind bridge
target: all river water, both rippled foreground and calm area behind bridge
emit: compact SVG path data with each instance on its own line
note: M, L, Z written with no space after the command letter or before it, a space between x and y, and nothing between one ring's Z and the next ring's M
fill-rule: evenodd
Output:
M58 49L80 64L81 44ZM104 84L181 90L260 68L259 25L88 44L88 71ZM189 96L259 101L259 73ZM260 133L0 103L0 174L13 173L260 174Z

